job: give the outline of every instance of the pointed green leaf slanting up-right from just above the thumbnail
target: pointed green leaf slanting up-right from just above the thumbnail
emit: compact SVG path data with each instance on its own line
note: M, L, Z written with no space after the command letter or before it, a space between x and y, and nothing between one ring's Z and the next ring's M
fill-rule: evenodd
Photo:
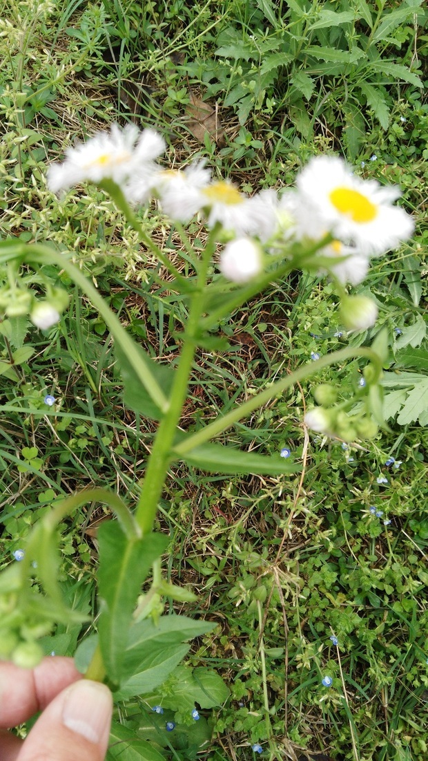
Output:
M132 676L121 684L116 698L125 700L135 695L153 693L176 669L189 650L190 645L163 645L153 641L147 645L144 655L140 653L138 658L135 657L135 653L127 651L122 668L124 673Z

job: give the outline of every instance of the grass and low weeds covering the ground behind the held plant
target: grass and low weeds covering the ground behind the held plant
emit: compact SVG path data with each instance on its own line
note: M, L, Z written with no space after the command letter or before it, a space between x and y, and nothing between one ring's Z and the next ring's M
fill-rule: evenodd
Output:
M3 3L0 238L72 251L154 358L175 361L186 307L159 287L166 272L104 193L84 188L57 200L47 189L49 161L74 139L113 121L155 126L170 164L206 158L247 193L290 185L314 155L341 154L362 177L401 186L417 223L413 240L373 260L355 289L379 306L374 328L347 334L333 289L292 275L220 323L226 349L198 349L185 429L312 352L369 345L386 326L389 427L373 441L343 445L303 426L313 385L345 395L358 386L363 364L350 361L230 431L228 440L244 449L289 447L302 463L296 475L171 471L159 518L170 536L165 565L170 581L198 595L174 610L217 628L198 639L187 670L177 667L163 692L124 700L116 717L119 739L138 731L168 759L249 759L255 743L266 758L294 759L306 749L331 759L426 759L427 15L412 0ZM140 219L187 277L179 231L157 209ZM201 226L189 229L202 247ZM37 288L37 275L25 276ZM65 272L45 265L43 276L70 292L61 322L47 333L27 320L0 323L1 568L14 562L36 519L82 486L137 501L154 438L154 423L123 405L100 314ZM100 508L81 508L60 543L65 594L93 617L103 517ZM166 612L172 608L167 601ZM72 654L89 632L59 626L44 647ZM222 693L216 683L217 703L204 701L201 667L229 688ZM198 724L180 711L179 680L197 696ZM161 701L177 724L167 737L151 713ZM118 757L137 756L125 749Z

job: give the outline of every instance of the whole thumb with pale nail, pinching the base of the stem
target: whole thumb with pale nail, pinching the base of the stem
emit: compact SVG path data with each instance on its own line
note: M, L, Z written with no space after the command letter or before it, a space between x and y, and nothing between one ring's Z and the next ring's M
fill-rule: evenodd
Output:
M37 719L17 761L103 761L112 710L108 687L84 679L75 682Z

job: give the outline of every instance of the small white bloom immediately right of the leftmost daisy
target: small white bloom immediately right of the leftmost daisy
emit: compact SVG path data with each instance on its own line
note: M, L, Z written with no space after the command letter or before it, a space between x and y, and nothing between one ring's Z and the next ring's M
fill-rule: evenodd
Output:
M184 170L166 170L157 174L156 189L163 211L171 219L189 222L206 205L201 190L211 182L211 171L204 161Z

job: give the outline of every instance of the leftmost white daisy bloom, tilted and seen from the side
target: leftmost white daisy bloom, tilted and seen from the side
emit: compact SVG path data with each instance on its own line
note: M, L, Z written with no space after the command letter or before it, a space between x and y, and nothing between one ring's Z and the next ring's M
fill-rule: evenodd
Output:
M59 193L84 180L109 179L121 185L130 177L153 174L154 160L164 150L163 138L153 129L140 132L135 124L128 124L121 130L113 124L110 132L97 132L87 142L67 148L65 161L49 167L48 186Z

